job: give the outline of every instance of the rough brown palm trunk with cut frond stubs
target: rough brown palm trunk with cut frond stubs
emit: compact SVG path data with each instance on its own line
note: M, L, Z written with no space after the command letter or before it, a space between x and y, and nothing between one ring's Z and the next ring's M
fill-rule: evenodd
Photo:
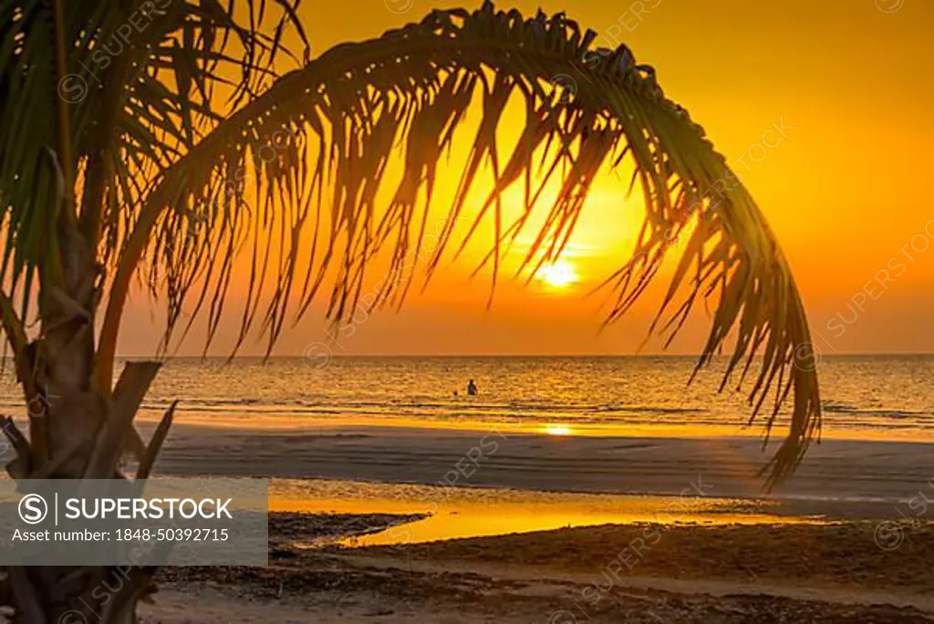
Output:
M59 224L58 231L64 287L47 288L43 282L41 334L18 354L28 364L17 366L27 397L37 392L29 402L32 439L11 435L17 438L18 459L7 470L17 479L125 478L118 469L120 457L159 364L128 363L112 395L93 389L98 270L74 225ZM155 450L146 454L150 462ZM154 567L128 566L8 567L0 597L9 598L17 623L130 624L155 572Z

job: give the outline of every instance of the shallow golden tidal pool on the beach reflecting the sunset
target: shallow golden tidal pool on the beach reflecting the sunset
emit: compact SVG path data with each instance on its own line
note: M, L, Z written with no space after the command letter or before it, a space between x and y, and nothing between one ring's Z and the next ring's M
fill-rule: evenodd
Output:
M666 525L820 522L785 516L778 502L696 496L574 494L511 489L276 479L270 510L342 514L427 514L381 524L353 537L334 535L305 546L390 546L436 540L552 531L565 527L652 522Z

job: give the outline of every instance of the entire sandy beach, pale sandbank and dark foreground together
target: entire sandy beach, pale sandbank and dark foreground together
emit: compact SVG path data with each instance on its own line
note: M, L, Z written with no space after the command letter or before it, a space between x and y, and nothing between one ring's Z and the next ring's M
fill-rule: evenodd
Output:
M143 621L934 622L934 527L907 504L921 493L934 500L932 448L827 440L776 491L776 503L761 498L757 471L767 456L755 438L182 426L164 449L163 475L301 478L297 486L277 482L286 492L280 508L388 505L388 513L276 513L268 567L167 569ZM741 501L707 508L701 521L713 525L654 524L644 519L658 518L658 504L672 511L671 503L658 503L664 497L545 491L670 494L677 501L686 489L697 499L689 489L699 482L717 500ZM316 483L325 492L317 503L305 493ZM381 485L398 483L433 487ZM408 500L390 504L386 490ZM445 508L425 509L432 496ZM544 506L535 506L539 499ZM643 519L433 543L423 542L434 533L408 529L435 518L470 534L467 512L485 505L494 517L521 508L539 517L585 501L598 516L610 507L625 516L632 509L618 505L642 505L632 518ZM774 523L743 516L759 506ZM423 519L431 511L436 516ZM403 512L411 513L391 515ZM807 515L820 519L791 522ZM734 517L753 523L732 524ZM418 539L346 546L378 543L393 530Z

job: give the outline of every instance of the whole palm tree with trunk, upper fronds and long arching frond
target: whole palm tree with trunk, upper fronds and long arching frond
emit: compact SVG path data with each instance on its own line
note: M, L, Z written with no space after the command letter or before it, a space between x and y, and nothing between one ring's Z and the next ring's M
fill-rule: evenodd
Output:
M676 235L687 234L658 312L661 330L673 335L701 295L714 296L698 367L735 337L724 384L759 362L750 401L755 419L772 397L761 417L767 431L793 392L770 482L795 468L820 423L795 282L752 197L701 127L665 98L651 67L636 64L625 46L593 50L594 32L563 14L526 19L489 2L433 11L310 60L295 4L224 4L0 7L0 318L24 400L43 405L29 410L28 436L7 419L18 455L10 475L124 478L124 451L140 459L137 479L149 475L173 410L148 444L133 420L159 364L130 362L116 384L112 378L136 282L167 303L166 344L177 327L206 318L210 345L243 266L250 277L236 347L259 327L271 349L285 320L301 318L325 291L335 322L358 305L401 303L413 280L405 259L426 253L429 208L419 196L431 202L436 167L474 95L482 120L427 254L427 277L448 247L462 248L487 221L495 238L484 263L495 276L505 248L543 209L549 181L559 195L544 208L524 268L553 261L598 171L630 163L646 216L633 260L607 282L616 293L608 320L645 290ZM304 45L304 59L284 41ZM287 64L295 68L280 73ZM584 72L574 92L556 88L554 77ZM527 114L522 140L504 153L497 129L510 98ZM377 210L400 145L403 175ZM492 190L466 238L455 235L487 166ZM255 190L242 188L244 172ZM525 203L521 217L505 223L501 191L514 183L524 185ZM238 252L250 262L233 262ZM367 267L379 252L391 258L389 276L364 302ZM79 600L99 608L104 622L134 621L154 570L134 570L116 596L94 603L90 591L107 572L10 567L0 596L21 622L56 621L86 608Z

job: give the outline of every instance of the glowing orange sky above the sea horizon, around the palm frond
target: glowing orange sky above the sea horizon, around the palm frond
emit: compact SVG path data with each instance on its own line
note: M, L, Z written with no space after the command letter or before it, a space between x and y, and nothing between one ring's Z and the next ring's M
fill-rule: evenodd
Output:
M341 41L418 20L432 7L461 4L305 2L301 13L317 55ZM931 162L927 149L934 144L934 46L928 33L934 3L512 4L526 13L571 4L571 17L601 33L599 45L616 47L616 36L639 62L656 67L666 93L705 127L771 221L819 333L814 343L824 353L934 351L934 335L927 331L934 310L934 248L928 248L934 242L934 206L923 187ZM650 12L637 15L640 7ZM776 125L784 137L763 136ZM763 143L774 147L759 147ZM448 193L459 173L452 169L439 179ZM487 311L488 273L469 279L477 250L446 265L399 314L359 315L337 336L333 353L634 352L658 306L664 277L630 317L599 335L602 299L584 297L595 280L627 258L639 208L626 201L624 191L625 184L609 175L596 186L568 256L578 283L556 288L539 281L522 288L504 281ZM442 191L441 201L444 196ZM700 349L707 324L698 312L672 353ZM137 295L128 313L120 351L151 353L159 310ZM238 322L231 315L217 353L227 352L231 340L224 336ZM301 354L324 339L322 326L319 314L310 315L283 336L276 353ZM192 333L178 353L200 353L201 335ZM250 342L242 353L262 348ZM645 350L658 352L660 343L651 341Z

